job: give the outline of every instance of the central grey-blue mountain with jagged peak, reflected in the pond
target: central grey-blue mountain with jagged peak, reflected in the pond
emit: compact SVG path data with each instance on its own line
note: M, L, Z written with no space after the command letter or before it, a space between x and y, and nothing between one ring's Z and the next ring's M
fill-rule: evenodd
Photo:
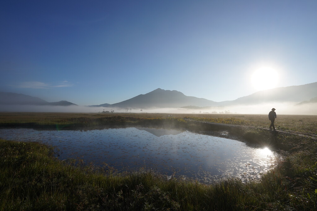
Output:
M144 95L114 103L108 107L118 108L180 108L183 106L217 106L217 102L204 98L186 96L176 90L156 89Z

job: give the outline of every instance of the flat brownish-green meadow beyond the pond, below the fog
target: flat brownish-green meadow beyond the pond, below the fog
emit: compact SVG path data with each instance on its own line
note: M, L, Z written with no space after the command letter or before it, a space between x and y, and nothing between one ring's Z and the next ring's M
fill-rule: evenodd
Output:
M157 124L162 120L181 122L189 118L200 121L236 124L268 128L267 115L236 114L101 114L101 113L32 113L0 112L0 127L94 127L104 125ZM279 130L317 135L317 116L315 115L278 115L275 126Z

